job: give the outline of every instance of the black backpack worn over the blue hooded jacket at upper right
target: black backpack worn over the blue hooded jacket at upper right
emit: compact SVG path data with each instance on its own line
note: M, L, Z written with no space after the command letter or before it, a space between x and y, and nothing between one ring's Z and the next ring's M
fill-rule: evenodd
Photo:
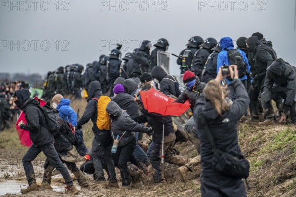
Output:
M236 65L238 70L238 77L241 78L246 75L247 69L243 61L243 57L237 49L227 50L227 56L230 65Z

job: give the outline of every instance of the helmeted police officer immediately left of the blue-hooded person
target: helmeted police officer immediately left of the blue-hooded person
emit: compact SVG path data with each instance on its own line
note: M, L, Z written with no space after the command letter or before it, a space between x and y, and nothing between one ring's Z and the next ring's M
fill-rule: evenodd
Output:
M217 76L217 56L221 51L220 46L217 44L214 48L211 49L213 53L211 53L206 61L204 69L201 74L201 81L204 83L208 83L208 81L215 79Z

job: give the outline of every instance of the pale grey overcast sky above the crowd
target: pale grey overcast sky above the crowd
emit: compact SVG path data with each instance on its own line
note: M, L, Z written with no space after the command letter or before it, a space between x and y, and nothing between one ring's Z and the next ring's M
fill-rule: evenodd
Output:
M44 75L67 64L85 66L109 54L116 41L124 55L143 40L163 37L168 52L179 54L195 35L219 41L254 32L296 66L294 18L295 0L3 0L0 72ZM170 58L171 74L179 74L176 58Z

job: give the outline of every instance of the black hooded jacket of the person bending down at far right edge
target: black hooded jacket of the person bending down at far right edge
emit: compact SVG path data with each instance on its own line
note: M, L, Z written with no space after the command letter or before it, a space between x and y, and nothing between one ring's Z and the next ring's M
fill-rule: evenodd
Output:
M296 68L284 62L279 58L268 68L264 82L264 92L267 101L271 100L272 86L277 84L285 87L286 99L283 111L287 113L296 97Z

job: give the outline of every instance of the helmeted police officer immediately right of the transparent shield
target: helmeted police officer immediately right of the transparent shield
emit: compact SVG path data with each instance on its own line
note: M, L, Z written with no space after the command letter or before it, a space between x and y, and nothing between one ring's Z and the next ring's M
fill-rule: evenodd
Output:
M187 48L182 50L179 54L182 57L177 59L177 64L180 65L180 74L183 74L187 70L191 70L191 64L195 52L199 49L199 45L203 43L203 39L200 36L191 37L188 41Z

